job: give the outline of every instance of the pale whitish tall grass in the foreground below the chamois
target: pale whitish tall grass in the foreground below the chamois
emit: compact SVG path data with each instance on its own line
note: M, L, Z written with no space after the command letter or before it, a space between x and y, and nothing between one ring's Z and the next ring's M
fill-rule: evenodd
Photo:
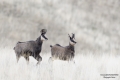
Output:
M41 64L30 57L29 65L23 57L16 62L12 49L0 49L0 80L106 80L101 74L118 74L111 80L120 79L120 57L114 55L79 54L75 64L56 60L49 63L50 53L41 56Z

